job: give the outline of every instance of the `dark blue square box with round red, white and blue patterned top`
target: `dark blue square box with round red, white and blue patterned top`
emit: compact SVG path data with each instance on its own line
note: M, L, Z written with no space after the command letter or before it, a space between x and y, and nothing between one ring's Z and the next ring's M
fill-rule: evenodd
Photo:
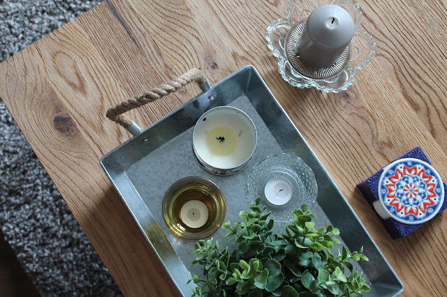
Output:
M357 187L393 238L410 234L447 208L447 185L420 147Z

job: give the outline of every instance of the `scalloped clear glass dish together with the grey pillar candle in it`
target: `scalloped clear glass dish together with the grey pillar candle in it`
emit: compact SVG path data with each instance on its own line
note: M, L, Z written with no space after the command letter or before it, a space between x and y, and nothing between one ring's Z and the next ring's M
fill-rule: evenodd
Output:
M375 55L376 43L362 30L361 17L351 1L290 1L286 17L272 22L265 36L282 78L302 89L348 89L356 70Z

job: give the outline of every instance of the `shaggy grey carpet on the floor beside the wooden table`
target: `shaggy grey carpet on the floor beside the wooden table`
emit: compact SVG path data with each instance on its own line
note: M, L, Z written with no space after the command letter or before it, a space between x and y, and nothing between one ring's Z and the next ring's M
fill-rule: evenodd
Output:
M0 60L99 2L0 0ZM122 295L1 100L0 225L42 296Z

